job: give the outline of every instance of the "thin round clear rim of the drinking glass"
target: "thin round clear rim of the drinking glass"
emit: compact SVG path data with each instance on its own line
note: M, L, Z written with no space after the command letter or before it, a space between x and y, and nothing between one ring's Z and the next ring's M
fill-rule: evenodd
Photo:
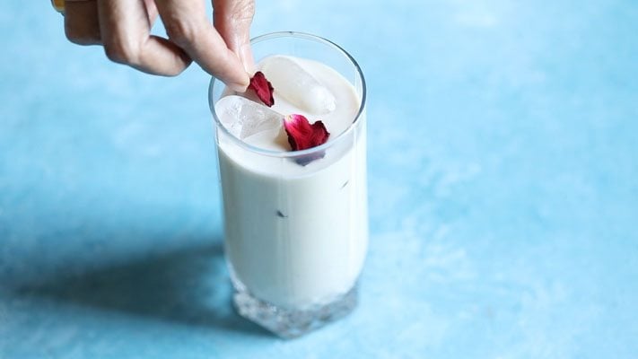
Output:
M361 79L361 84L362 84L362 95L361 95L361 104L359 105L359 109L356 112L356 115L354 116L354 120L353 122L350 124L350 126L348 126L347 128L345 128L345 130L340 133L338 136L336 136L335 138L328 140L328 142L326 142L325 144L320 144L316 147L312 147L312 148L308 148L305 150L299 150L299 151L274 151L274 150L267 150L252 144L247 144L244 141L242 141L239 137L232 135L232 133L223 126L221 120L217 117L217 113L214 110L214 103L213 103L213 91L214 91L214 86L216 83L219 83L221 85L225 85L223 82L217 80L215 77L213 77L211 79L211 82L208 86L208 106L211 110L211 113L213 114L213 118L214 118L214 122L215 125L217 127L217 131L221 130L223 131L224 134L230 136L232 138L232 141L235 144L240 145L240 147L243 147L245 149L248 149L251 152L254 153L258 153L258 154L263 154L263 155L267 155L270 157L282 157L282 158L289 158L289 157L298 157L298 156L303 156L303 155L308 155L311 153L317 153L317 152L321 152L321 151L325 151L326 149L328 149L329 147L335 145L336 143L340 142L340 140L342 140L345 136L347 136L348 134L350 134L352 131L354 131L354 128L357 127L357 125L360 122L360 118L362 118L363 115L363 111L365 110L365 101L366 101L366 86L365 86L365 77L363 77L363 71L361 70L361 67L359 66L359 64L356 62L356 60L354 60L354 57L352 57L347 51L345 51L344 48L341 48L339 45L336 45L336 43L334 43L333 41L330 41L329 39L324 39L322 37L319 37L317 35L312 35L310 33L306 33L306 32L298 32L298 31L276 31L276 32L269 32L267 34L264 35L259 35L253 39L250 39L250 45L254 45L257 44L259 42L268 40L268 39L278 39L278 38L285 38L285 37L293 37L293 38L298 38L298 39L308 39L308 40L312 40L312 41L316 41L319 43L322 43L324 45L328 45L328 47L336 49L336 51L340 52L342 55L344 55L349 61L350 63L354 66L354 69L356 70L356 73L359 74L359 78Z

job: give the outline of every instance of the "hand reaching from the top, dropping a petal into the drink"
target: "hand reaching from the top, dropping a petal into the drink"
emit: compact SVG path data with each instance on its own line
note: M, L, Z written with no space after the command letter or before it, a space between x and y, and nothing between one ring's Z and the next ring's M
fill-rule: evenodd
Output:
M66 0L66 37L102 45L107 57L149 74L172 76L195 61L235 91L249 84L254 0ZM151 35L158 14L168 39Z

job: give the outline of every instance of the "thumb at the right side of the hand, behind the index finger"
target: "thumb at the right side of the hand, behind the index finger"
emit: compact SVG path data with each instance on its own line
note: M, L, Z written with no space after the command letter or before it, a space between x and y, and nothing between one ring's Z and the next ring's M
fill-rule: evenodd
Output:
M254 0L213 0L214 27L226 46L240 58L247 73L255 72L250 48L250 24L255 14Z

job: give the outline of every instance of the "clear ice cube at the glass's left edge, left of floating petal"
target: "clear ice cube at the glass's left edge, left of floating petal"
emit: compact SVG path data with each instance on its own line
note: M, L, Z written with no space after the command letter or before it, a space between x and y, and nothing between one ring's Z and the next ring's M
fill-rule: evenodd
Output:
M241 96L229 95L214 104L217 117L233 136L248 136L282 127L284 115Z

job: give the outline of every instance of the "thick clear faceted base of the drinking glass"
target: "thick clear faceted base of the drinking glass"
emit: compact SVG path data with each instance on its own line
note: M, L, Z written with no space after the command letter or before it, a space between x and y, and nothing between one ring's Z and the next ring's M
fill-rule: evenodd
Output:
M357 303L357 286L339 296L333 302L308 310L295 311L278 308L252 296L243 288L235 286L232 302L240 316L267 328L279 337L300 337L331 321L341 319L354 310Z

